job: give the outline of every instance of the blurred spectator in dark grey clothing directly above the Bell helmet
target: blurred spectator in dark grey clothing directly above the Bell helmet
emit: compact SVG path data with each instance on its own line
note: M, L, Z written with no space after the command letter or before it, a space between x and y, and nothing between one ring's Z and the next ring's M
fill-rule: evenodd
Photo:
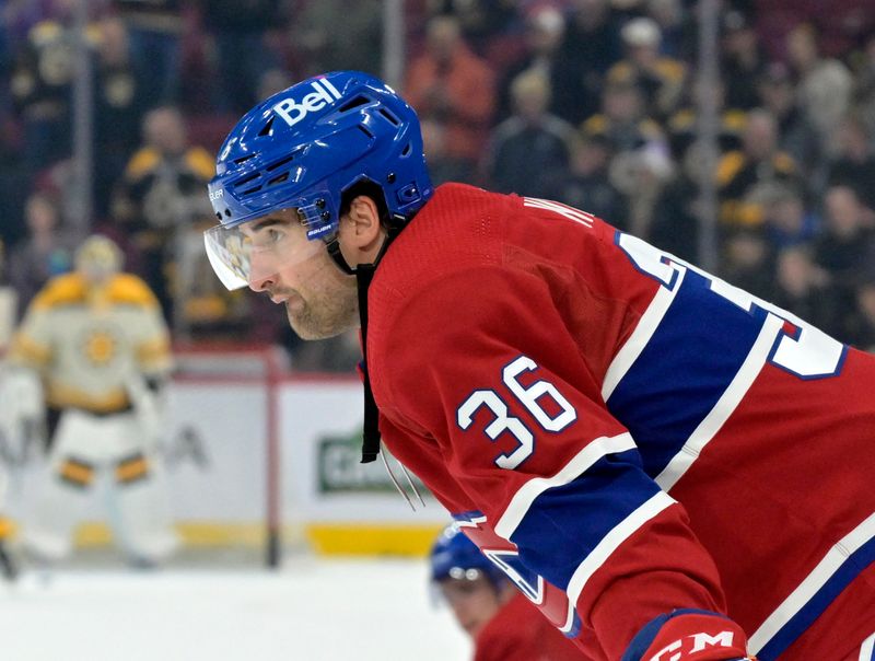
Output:
M338 22L342 22L342 30L338 30ZM383 3L380 0L304 2L295 11L289 30L289 40L303 63L302 76L340 69L381 73Z

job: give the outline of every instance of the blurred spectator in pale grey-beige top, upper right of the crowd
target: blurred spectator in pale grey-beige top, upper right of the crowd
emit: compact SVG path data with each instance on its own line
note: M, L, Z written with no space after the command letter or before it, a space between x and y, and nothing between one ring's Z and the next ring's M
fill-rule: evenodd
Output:
M853 83L851 72L839 60L820 55L817 31L812 24L800 23L786 39L790 63L798 80L800 105L817 129L824 149L829 150L832 129L848 112Z

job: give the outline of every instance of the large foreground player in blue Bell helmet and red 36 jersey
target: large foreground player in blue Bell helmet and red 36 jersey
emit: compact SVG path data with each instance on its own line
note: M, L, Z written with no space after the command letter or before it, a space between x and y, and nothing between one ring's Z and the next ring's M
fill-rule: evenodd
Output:
M232 129L206 244L304 338L360 320L378 433L590 659L872 656L875 357L542 199L430 184L359 72ZM865 656L868 654L868 656Z

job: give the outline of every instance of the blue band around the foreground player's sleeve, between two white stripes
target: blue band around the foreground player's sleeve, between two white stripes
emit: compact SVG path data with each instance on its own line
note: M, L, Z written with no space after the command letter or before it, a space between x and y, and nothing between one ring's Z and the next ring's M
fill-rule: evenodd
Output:
M511 542L526 566L567 590L596 545L657 491L641 474L637 451L602 457L576 479L538 495Z

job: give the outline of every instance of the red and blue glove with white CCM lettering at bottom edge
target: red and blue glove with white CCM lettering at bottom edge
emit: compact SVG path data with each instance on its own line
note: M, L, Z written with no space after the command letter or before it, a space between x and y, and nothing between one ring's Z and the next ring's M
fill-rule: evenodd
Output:
M651 621L629 643L622 661L756 661L733 621L691 608Z

